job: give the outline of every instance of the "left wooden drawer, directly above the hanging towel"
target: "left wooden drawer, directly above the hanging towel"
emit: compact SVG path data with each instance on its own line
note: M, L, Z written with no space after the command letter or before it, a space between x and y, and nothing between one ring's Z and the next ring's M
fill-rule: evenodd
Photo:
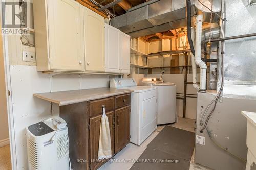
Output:
M102 105L105 105L105 112L115 109L115 102L113 98L99 99L89 102L89 115L94 116L102 114Z

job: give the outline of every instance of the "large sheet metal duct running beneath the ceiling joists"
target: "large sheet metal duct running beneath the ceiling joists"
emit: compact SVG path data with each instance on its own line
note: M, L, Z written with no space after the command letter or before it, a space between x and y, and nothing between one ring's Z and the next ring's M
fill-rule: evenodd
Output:
M219 0L214 1L213 11L220 13L220 4ZM192 25L197 14L203 14L204 21L210 22L210 13L195 1L191 9ZM214 14L212 22L218 20ZM111 19L111 25L135 38L186 27L186 1L160 0Z

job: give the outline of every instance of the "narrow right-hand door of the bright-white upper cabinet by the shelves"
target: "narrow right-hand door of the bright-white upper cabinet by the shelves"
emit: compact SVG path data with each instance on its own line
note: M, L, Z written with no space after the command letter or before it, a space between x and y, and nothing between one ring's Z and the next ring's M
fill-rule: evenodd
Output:
M130 36L120 32L120 69L122 73L130 73Z

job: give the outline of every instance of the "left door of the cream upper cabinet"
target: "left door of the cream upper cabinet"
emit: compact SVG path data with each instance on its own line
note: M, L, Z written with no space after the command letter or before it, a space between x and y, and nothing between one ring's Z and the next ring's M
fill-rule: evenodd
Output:
M48 0L51 70L82 71L82 8L72 0Z

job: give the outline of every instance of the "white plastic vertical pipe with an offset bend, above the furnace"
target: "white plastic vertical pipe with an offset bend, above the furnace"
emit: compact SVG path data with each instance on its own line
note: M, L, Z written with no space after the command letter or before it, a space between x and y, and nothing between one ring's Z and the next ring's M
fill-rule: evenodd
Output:
M197 16L196 21L196 44L195 44L195 62L200 67L200 86L199 91L206 91L206 69L205 62L201 60L201 42L202 42L202 22L203 15Z

